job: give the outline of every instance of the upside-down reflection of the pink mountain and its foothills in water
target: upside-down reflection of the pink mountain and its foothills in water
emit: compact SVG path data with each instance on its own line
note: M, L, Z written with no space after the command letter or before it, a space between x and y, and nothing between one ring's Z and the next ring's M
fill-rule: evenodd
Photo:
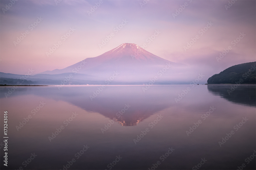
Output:
M15 95L38 95L71 103L88 112L97 112L122 126L136 126L149 116L169 107L171 95L157 86L142 90L142 86L106 86L95 98L101 86L57 86L18 88ZM4 89L1 88L1 91ZM1 93L1 97L5 97Z

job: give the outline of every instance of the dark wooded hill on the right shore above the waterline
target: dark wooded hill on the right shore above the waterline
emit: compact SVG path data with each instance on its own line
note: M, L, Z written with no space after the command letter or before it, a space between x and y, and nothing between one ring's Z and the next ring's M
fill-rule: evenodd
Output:
M231 66L219 74L214 74L208 80L208 84L235 84L241 82L244 84L255 84L256 83L256 62L248 62Z

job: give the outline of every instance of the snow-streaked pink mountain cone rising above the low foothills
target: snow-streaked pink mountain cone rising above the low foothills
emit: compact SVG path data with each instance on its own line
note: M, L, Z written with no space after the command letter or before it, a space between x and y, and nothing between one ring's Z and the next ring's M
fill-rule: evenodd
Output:
M159 71L163 69L164 72L169 72L169 70L177 71L180 68L181 72L181 67L184 66L185 64L158 57L136 44L124 43L100 56L86 58L64 69L45 71L40 74L79 73L108 78L116 72L118 76L115 81L134 82L152 79L157 74L160 75ZM168 68L168 71L165 67ZM169 69L170 67L171 69ZM170 80L171 74L166 77Z

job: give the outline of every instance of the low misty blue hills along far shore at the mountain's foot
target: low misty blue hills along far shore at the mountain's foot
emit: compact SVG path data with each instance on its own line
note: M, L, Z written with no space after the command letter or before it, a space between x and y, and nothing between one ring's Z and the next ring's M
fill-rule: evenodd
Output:
M72 76L70 76L72 75ZM79 73L20 75L0 72L0 84L6 85L141 85L148 81L118 82L104 77ZM186 83L186 82L181 82ZM157 81L154 84L177 84L175 81Z

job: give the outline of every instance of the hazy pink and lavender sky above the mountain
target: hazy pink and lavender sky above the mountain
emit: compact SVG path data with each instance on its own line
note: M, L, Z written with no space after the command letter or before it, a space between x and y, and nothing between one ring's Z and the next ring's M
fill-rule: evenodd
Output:
M256 60L256 1L1 0L0 7L5 73L63 69L122 43L209 76Z

